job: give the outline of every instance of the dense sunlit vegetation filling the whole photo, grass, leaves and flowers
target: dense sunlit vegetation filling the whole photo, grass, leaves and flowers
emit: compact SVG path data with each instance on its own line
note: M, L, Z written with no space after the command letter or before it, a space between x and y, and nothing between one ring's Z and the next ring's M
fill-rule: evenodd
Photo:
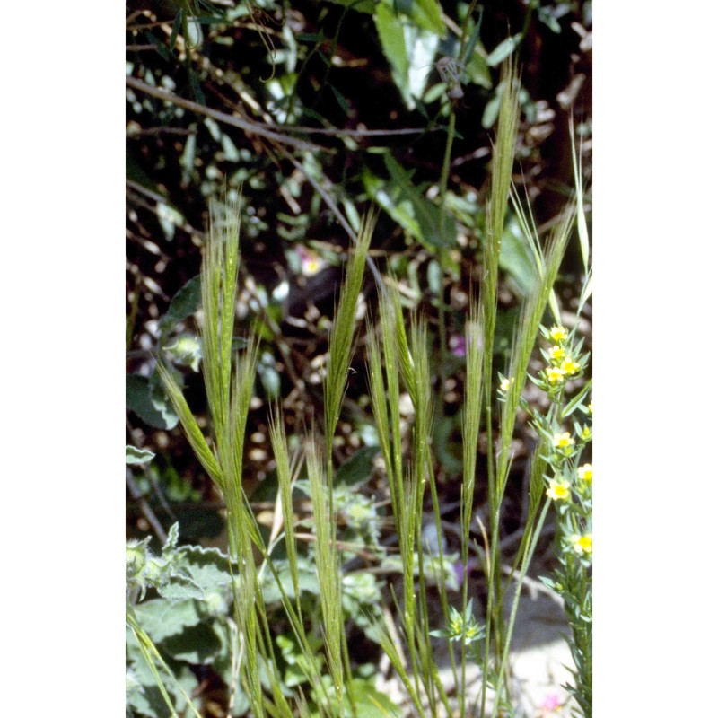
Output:
M129 711L395 714L387 617L415 711L512 710L502 562L590 613L585 482L544 523L590 467L590 170L590 3L127 3Z

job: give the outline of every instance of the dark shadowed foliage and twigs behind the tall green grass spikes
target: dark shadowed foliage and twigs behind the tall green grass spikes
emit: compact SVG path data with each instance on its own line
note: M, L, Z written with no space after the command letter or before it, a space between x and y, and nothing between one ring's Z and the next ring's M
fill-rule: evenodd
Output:
M157 452L151 469L128 471L128 535L148 530L148 511L165 528L180 519L184 539L210 540L223 527L218 497L167 411L154 374L158 352L178 337L195 334L196 294L187 285L199 271L208 202L242 188L237 335L246 335L258 322L264 339L246 460L247 489L258 503L271 496L261 488L272 471L267 399L283 398L288 433L321 416L318 361L351 241L315 184L349 215L363 213L372 192L375 198L382 188L411 190L415 205L437 206L450 112L446 94L431 92L441 78L427 63L424 92L409 107L392 74L391 48L377 31L374 15L363 12L374 6L347 5L127 3L127 442ZM416 24L416 4L405 0L396 9L404 13L402 22ZM466 9L466 4L442 4L444 17L457 30ZM524 90L514 179L530 200L539 231L545 232L574 186L570 112L582 138L583 169L590 174L591 4L487 4L475 8L472 17L479 16L477 45L484 60L508 35L524 33L515 51ZM433 59L455 57L459 45L450 29ZM500 81L498 64L483 62L481 68L469 72L467 67L463 97L453 108L456 138L447 201L447 226L453 233L417 239L401 215L385 211L372 241L376 264L406 288L407 308L424 311L430 319L434 371L445 388L434 445L447 504L456 498L451 479L460 458L456 415L463 368L456 343L469 284L476 283L480 271ZM174 99L156 96L153 88L171 92ZM212 110L223 114L207 118ZM232 118L255 123L254 130L232 126ZM262 136L261 127L278 139ZM366 133L407 128L416 132ZM405 174L398 176L399 171ZM590 209L590 194L588 200ZM315 268L320 271L313 273ZM499 333L507 342L521 299L521 268L509 264L504 269ZM570 306L577 258L569 256L564 271L562 299ZM183 287L185 304L172 302ZM368 275L370 311L375 294ZM441 302L448 334L443 350ZM190 363L184 356L178 367L190 406L201 415L201 374ZM363 445L363 432L371 431L363 376L360 340L340 425L339 464ZM520 439L523 446L526 437ZM515 530L521 521L521 449L515 471L517 498L511 506L509 496L506 530ZM480 482L477 486L480 492Z

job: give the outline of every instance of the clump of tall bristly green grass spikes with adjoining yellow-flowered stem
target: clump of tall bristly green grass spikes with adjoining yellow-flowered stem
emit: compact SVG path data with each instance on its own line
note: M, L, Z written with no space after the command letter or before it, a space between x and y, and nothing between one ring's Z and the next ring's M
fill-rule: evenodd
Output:
M568 242L578 220L587 283L582 304L590 295L588 234L582 207L580 172L576 171L577 201L565 211L544 246L512 189L514 143L519 120L516 69L503 71L503 95L494 147L492 180L488 200L485 242L477 292L470 297L466 340L466 391L462 408L461 436L463 477L460 485L461 590L458 605L451 594L451 561L442 541L434 547L425 539L425 526L433 525L442 537L439 487L434 471L433 422L437 394L430 361L430 337L424 317L404 316L396 283L382 289L377 316L367 322L367 376L372 414L376 425L382 470L390 495L389 514L396 534L400 561L399 579L391 586L393 611L369 618L367 629L381 646L406 692L408 714L438 718L458 712L467 715L511 714L513 698L507 679L521 584L538 546L548 512L556 509L556 546L559 567L547 585L564 600L573 629L574 686L571 688L583 715L591 715L591 477L592 467L580 463L591 441L588 416L590 382L576 385L588 366L577 335L578 322L570 331L562 323L553 290ZM445 180L443 181L445 189ZM504 373L495 369L495 326L499 258L503 224L512 205L530 242L536 263L536 282L526 296L514 332L510 359ZM442 215L443 216L443 215ZM381 703L355 674L346 635L345 580L349 552L337 536L337 467L332 447L346 393L350 360L358 326L357 303L376 215L363 220L358 241L351 251L346 276L338 293L335 320L329 334L328 355L322 383L324 413L321 431L310 425L299 437L303 456L292 454L285 434L281 408L269 417L271 446L276 460L278 491L274 521L268 538L258 521L242 484L244 441L250 411L259 339L250 334L241 353L233 351L235 304L238 293L239 210L217 206L208 232L201 272L203 376L212 435L206 437L183 395L180 381L170 365L160 363L159 372L180 424L197 460L223 496L229 528L228 565L232 573L233 625L236 645L233 658L238 683L250 714L259 716L301 715L344 718L363 715L400 715L398 705ZM442 300L440 299L440 303ZM547 317L553 320L543 326ZM550 322L549 322L550 323ZM408 331L407 331L408 326ZM442 329L443 331L443 329ZM442 347L445 337L442 335ZM530 376L530 360L537 346L545 368ZM533 381L549 399L546 415L529 407L523 398L527 381ZM572 384L573 381L573 384ZM578 393L572 394L574 386ZM405 437L402 393L411 404L411 421ZM495 416L498 398L498 416ZM517 412L531 412L531 425L538 434L529 486L529 512L521 545L509 575L502 571L501 526L503 497L512 466L512 439ZM442 410L441 407L438 409ZM582 422L575 416L582 415ZM574 421L569 425L569 421ZM481 431L488 436L487 475L479 475L477 452ZM300 477L304 477L301 480ZM477 481L486 481L488 525L476 523L474 497ZM300 544L294 513L294 496L302 485L311 502L313 540L307 552ZM429 509L425 511L425 507ZM426 515L425 515L426 514ZM472 531L479 530L483 547ZM483 620L474 614L469 595L468 565L479 557L486 574L487 605ZM302 561L309 556L318 585L318 609L302 605ZM284 567L286 570L284 570ZM286 578L289 578L287 581ZM271 583L278 595L282 621L295 646L298 671L295 689L287 685L280 670L279 647L264 595ZM435 587L435 588L432 588ZM438 592L444 616L437 625L432 618L432 591ZM504 618L507 596L513 599L508 620ZM128 607L128 624L143 646L149 661L156 649ZM317 650L315 629L321 650ZM435 644L449 646L455 692L440 677ZM468 663L481 671L478 690L468 686ZM162 680L158 685L164 695ZM169 703L169 696L167 701ZM189 705L191 701L188 699ZM367 707L367 706L372 706ZM377 706L379 706L377 708ZM194 708L193 708L194 710ZM375 713L368 713L374 710ZM195 711L195 714L197 712Z

